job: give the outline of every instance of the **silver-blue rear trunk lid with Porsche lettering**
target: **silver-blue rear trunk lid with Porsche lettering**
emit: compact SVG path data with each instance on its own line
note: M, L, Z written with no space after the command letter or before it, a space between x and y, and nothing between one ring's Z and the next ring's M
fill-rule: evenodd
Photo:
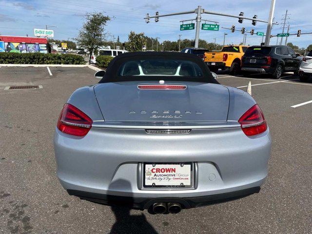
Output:
M94 87L105 121L227 120L229 91L222 85L183 82L179 84L187 86L184 90L140 90L138 84L157 83L128 81Z

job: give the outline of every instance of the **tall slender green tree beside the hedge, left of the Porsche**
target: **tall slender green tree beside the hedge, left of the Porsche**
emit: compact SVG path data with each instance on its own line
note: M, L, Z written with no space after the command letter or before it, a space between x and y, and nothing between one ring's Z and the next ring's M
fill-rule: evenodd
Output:
M85 16L86 21L83 23L79 31L77 44L85 47L89 55L89 64L93 54L98 53L98 47L104 45L106 40L105 26L111 20L108 16L102 13L87 13Z

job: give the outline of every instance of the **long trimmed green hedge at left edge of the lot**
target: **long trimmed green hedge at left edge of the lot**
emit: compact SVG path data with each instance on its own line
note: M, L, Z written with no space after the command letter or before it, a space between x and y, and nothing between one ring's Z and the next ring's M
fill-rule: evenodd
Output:
M73 54L0 53L0 64L86 64L83 57Z

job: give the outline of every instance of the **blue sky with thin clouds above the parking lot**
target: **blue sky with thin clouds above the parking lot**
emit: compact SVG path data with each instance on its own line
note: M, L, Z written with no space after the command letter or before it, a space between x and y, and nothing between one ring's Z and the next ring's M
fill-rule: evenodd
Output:
M201 5L202 8L213 12L222 12L238 15L241 11L246 17L252 18L258 15L258 19L267 20L269 16L271 0L0 0L0 34L12 36L34 36L34 28L45 28L45 25L57 26L54 30L55 39L74 38L82 26L83 16L86 12L99 11L112 18L107 26L108 39L117 38L127 40L130 31L144 32L149 37L159 37L159 41L194 39L195 30L179 31L180 20L194 19L195 14L160 18L159 22L151 20L145 23L143 17L146 13L154 15L168 14L173 12L190 11ZM290 19L290 32L296 33L301 29L302 33L312 32L312 21L308 13L312 9L312 0L276 0L274 12L275 20L282 22L283 14L288 9ZM236 29L245 27L250 30L254 27L255 32L266 32L266 24L258 22L256 26L251 21L244 20L243 24L235 18L222 16L203 15L202 19L218 21L220 31L200 30L200 39L209 42L223 43L224 32L228 33L226 43L239 43L243 40L240 32L231 33L221 27ZM273 27L272 34L281 33L281 25ZM260 44L262 37L247 36L247 44ZM312 44L312 34L302 35L300 38L292 36L288 39L299 47ZM276 38L271 40L276 44Z

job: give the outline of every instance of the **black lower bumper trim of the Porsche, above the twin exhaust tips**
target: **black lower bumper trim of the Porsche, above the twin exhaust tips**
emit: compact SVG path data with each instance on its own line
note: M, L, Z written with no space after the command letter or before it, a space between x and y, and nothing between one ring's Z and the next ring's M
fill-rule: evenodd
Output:
M254 187L239 191L234 191L224 194L208 195L208 196L198 196L198 197L130 197L130 196L116 196L116 195L105 195L90 193L78 190L67 190L69 195L75 195L83 200L88 200L104 205L122 205L133 209L145 210L151 207L157 202L176 202L181 204L182 208L189 209L195 207L208 206L216 203L232 201L239 198L246 197L255 193L259 193L260 187Z

